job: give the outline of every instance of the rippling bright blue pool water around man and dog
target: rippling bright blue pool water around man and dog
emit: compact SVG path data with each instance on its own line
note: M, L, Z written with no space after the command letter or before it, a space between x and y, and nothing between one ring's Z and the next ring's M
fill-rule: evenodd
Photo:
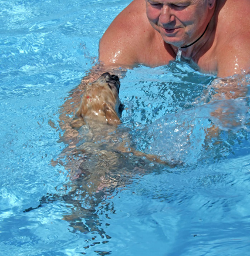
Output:
M211 102L214 76L138 66L123 124L63 142L61 106L129 3L0 0L0 255L249 255L248 96Z

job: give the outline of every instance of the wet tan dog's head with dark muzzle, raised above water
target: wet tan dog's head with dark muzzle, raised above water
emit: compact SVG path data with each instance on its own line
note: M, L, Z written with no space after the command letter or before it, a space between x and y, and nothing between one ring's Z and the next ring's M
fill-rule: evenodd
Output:
M76 117L72 121L73 128L79 128L89 120L117 126L121 123L118 111L120 80L118 76L103 73L93 83L88 83L82 96Z

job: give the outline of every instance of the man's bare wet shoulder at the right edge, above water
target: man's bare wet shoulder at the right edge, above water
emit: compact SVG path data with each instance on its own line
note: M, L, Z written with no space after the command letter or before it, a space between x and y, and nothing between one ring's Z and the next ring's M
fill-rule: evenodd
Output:
M228 76L237 69L248 69L250 58L250 1L227 0L219 10L216 29L215 55L218 75Z

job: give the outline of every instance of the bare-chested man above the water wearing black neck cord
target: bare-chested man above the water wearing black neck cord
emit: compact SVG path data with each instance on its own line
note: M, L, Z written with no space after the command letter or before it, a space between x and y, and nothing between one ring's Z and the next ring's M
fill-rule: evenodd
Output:
M250 68L249 0L134 0L99 46L104 66L167 65L178 49L218 77Z

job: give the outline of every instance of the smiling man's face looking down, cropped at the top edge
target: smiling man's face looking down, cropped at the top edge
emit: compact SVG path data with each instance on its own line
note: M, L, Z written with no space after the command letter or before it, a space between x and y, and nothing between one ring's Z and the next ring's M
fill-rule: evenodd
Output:
M208 22L208 0L146 0L147 18L166 43L194 42Z

